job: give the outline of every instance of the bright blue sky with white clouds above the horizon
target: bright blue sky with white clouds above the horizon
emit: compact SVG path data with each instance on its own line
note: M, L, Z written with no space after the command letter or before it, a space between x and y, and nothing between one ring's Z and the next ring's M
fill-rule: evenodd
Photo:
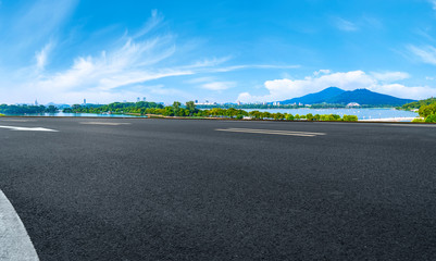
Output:
M436 0L1 0L0 34L0 103L436 97Z

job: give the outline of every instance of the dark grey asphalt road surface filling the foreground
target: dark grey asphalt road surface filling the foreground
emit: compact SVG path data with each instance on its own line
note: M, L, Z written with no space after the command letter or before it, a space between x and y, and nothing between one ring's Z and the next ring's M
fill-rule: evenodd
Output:
M436 259L436 125L22 120L59 130L0 128L40 260Z

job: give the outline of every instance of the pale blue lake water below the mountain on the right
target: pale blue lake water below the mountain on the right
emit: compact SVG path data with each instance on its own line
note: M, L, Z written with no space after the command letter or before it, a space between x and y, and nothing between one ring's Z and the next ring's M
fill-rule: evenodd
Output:
M271 113L290 113L292 115L307 115L309 113L315 114L337 114L342 116L357 115L359 120L371 120L371 119L391 119L391 117L415 117L419 116L416 112L411 111L399 111L395 109L264 109L264 110L246 110L246 111L261 111Z

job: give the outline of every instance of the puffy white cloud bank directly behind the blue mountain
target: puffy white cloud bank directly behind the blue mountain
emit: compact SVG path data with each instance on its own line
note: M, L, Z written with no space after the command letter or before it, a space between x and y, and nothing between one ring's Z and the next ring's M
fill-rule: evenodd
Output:
M242 102L279 101L321 91L331 86L345 90L366 88L382 94L411 99L427 98L432 95L436 96L436 88L426 86L408 87L389 83L403 78L406 73L379 74L378 76L384 78L384 80L379 80L373 74L366 74L363 71L329 73L317 77L308 76L303 79L284 78L266 80L264 87L269 92L267 95L253 96L249 92L242 92L237 100Z

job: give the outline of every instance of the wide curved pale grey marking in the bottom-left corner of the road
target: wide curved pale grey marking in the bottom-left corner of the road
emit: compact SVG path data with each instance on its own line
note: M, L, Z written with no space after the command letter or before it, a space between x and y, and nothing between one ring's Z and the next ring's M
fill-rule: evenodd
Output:
M23 222L0 190L0 260L39 260Z

